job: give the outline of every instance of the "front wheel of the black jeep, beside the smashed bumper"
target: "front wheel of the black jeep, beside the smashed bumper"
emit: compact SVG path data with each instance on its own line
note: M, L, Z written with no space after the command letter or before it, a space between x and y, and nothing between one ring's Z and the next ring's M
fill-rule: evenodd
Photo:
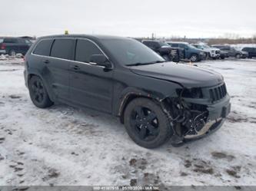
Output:
M147 98L131 100L125 108L124 120L128 135L141 147L159 147L171 137L168 117Z

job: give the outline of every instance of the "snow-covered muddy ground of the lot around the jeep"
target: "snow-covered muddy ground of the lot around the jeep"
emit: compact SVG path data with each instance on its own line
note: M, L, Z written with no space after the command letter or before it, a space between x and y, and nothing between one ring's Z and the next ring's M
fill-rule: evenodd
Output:
M38 109L22 59L0 61L0 185L256 185L256 60L204 61L224 75L228 120L183 147L138 147L117 119Z

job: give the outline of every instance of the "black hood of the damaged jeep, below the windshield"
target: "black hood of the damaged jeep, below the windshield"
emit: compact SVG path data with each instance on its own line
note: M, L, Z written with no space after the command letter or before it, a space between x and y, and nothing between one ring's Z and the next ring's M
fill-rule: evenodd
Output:
M174 62L146 64L130 69L135 74L173 81L184 87L211 87L223 81L217 72Z

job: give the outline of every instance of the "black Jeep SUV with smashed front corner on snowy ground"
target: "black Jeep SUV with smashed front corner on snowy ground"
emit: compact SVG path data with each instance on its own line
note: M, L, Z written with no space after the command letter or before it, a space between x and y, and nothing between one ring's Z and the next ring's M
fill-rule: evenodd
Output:
M35 106L64 103L120 117L141 147L204 137L230 111L221 74L166 62L131 38L38 38L25 55L24 75Z

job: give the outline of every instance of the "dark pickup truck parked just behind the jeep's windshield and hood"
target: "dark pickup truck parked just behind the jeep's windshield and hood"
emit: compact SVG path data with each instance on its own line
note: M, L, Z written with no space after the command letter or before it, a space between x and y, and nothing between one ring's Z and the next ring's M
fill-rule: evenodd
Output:
M158 40L143 40L141 41L148 48L161 55L166 61L179 61L183 50L179 48L171 48L171 46L165 42Z

